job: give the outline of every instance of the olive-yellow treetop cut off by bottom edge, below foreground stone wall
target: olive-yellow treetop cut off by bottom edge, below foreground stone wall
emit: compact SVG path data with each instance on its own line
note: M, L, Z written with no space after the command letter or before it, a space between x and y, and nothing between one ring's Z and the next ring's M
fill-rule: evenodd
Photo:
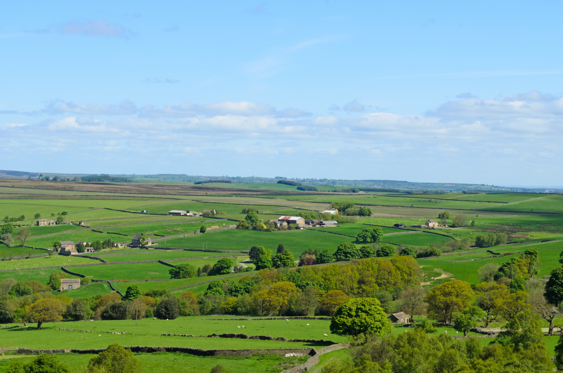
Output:
M142 368L131 350L112 343L105 351L90 359L87 372L138 373L142 372Z

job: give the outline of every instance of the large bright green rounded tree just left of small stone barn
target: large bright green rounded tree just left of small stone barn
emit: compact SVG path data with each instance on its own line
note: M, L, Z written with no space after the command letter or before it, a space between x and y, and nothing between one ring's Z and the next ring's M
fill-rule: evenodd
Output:
M345 301L334 313L330 332L357 337L360 334L383 334L391 326L385 310L374 298L352 298Z

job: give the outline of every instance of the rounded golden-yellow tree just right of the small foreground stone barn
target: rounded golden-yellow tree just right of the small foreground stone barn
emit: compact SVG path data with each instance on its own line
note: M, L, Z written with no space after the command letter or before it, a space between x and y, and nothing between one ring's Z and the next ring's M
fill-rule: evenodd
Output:
M454 312L461 312L470 306L473 297L475 294L468 282L453 280L431 288L425 301L428 303L428 314L448 324Z

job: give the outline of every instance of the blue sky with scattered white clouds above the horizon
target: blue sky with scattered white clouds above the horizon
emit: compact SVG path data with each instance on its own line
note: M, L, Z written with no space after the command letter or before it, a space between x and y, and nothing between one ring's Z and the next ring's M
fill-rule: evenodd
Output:
M11 2L0 168L563 185L562 4Z

